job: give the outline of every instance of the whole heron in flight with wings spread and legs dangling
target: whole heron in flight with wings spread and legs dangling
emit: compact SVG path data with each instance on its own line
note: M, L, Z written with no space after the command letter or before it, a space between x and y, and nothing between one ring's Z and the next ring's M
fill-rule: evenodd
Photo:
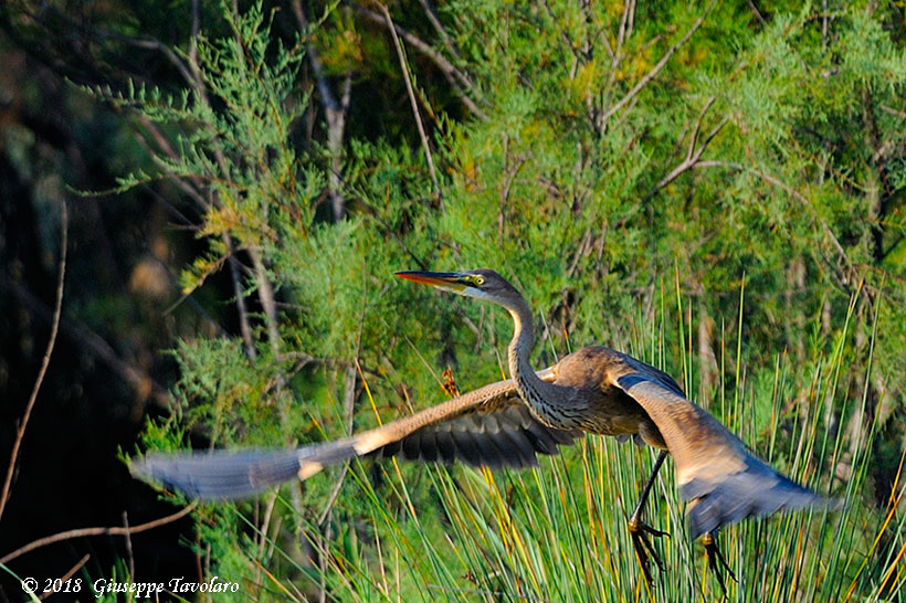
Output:
M676 381L645 362L609 348L587 347L552 367L533 370L531 310L496 272L399 272L397 276L504 307L514 324L507 349L512 379L341 440L287 451L152 454L136 463L133 472L191 497L235 499L296 477L306 479L356 456L524 467L536 465L537 454L556 454L558 446L583 432L633 438L661 451L629 518L645 579L651 581L649 557L661 567L649 537L666 532L645 523L642 511L670 453L681 493L688 500L691 535L703 537L721 588L720 565L730 570L714 539L719 528L747 517L826 504L752 455L691 402Z

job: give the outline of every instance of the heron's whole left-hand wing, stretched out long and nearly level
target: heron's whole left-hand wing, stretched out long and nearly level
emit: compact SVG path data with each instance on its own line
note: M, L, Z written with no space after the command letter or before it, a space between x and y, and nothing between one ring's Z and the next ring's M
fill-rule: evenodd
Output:
M545 369L538 375L552 381L555 373ZM362 455L524 467L580 435L539 423L506 380L351 437L286 451L151 454L131 472L193 498L236 499Z

